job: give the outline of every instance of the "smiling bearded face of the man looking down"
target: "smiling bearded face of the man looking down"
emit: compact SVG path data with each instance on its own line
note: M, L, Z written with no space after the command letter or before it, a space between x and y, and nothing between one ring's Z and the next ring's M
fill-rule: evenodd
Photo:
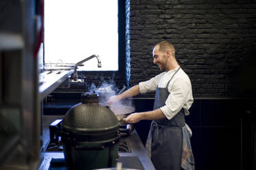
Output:
M165 52L159 51L159 45L154 47L152 54L154 58L154 64L157 64L161 71L167 71L167 57L165 56Z

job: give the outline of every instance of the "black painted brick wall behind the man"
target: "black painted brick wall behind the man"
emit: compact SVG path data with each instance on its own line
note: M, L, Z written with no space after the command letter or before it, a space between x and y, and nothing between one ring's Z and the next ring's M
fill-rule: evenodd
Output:
M152 47L168 40L191 78L194 97L244 97L255 91L255 80L248 79L256 63L255 0L130 0L126 8L129 3L130 86L161 73Z

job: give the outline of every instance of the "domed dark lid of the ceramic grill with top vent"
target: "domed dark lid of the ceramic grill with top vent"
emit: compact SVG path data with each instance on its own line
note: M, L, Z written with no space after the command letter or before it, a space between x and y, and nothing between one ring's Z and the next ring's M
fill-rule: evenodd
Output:
M99 104L97 93L82 94L82 103L73 106L62 121L65 130L75 134L113 132L119 128L115 114Z

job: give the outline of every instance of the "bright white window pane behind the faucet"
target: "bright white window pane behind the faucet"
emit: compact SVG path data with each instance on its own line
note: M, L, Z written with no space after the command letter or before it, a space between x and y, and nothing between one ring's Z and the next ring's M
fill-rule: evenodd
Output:
M117 1L45 0L45 63L84 62L79 70L118 70Z

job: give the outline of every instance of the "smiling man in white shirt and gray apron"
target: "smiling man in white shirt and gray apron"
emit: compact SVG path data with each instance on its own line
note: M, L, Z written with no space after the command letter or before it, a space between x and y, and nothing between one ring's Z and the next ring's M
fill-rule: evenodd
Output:
M146 82L140 82L120 95L110 97L107 104L112 105L139 93L155 91L154 110L135 112L124 120L127 123L152 120L147 147L156 169L194 169L189 138L191 130L185 125L185 115L189 114L188 110L194 101L191 82L178 65L174 46L170 42L159 42L152 54L154 64L158 64L164 72Z

